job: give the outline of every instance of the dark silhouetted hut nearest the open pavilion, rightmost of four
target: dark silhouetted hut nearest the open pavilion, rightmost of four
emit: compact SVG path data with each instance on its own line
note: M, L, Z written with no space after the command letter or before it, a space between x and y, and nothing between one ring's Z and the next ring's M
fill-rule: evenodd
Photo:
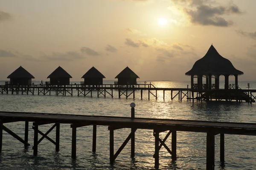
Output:
M115 79L118 79L118 85L136 85L137 78L140 77L128 68L128 66L115 77Z

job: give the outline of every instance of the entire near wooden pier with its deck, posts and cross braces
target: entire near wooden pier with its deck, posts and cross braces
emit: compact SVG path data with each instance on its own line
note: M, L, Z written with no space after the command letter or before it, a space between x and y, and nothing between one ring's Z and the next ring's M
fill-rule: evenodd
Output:
M207 133L207 170L214 170L215 167L215 135L220 134L220 161L224 162L224 134L234 135L253 135L256 136L255 123L234 123L234 122L208 122L195 120L175 120L175 119L149 119L135 118L134 107L131 104L131 117L113 117L113 116L83 116L71 114L52 114L52 113L27 113L27 112L0 112L0 152L2 152L3 130L22 142L25 146L30 145L28 141L29 122L33 122L34 156L38 155L38 144L46 138L55 144L55 150L59 151L60 144L60 124L70 124L72 128L72 153L71 157L76 158L76 130L79 127L88 125L93 126L93 144L92 150L96 152L96 130L97 125L108 126L110 132L110 162L115 159L122 149L131 140L131 157L135 156L135 132L137 129L151 129L155 139L154 167L159 168L159 150L163 146L171 154L172 160L177 159L177 131L201 132ZM20 136L9 130L4 124L9 122L25 122L25 137ZM46 133L39 130L40 125L54 124ZM53 129L56 129L55 141L47 135ZM121 128L131 128L131 133L125 139L119 149L114 152L114 130ZM168 131L164 139L159 138L159 134ZM38 140L38 133L42 135ZM166 139L172 134L171 149L167 146Z

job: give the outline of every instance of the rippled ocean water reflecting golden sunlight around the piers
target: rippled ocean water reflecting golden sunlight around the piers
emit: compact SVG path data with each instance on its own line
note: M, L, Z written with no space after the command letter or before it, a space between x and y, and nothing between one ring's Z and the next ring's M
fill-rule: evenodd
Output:
M35 82L40 83L40 82ZM75 82L73 82L75 83ZM76 82L77 83L77 82ZM111 84L113 81L105 81ZM144 83L139 82L139 83ZM148 82L149 83L149 82ZM157 87L186 88L189 82L152 82ZM233 82L230 82L233 83ZM256 89L256 82L239 82L239 87ZM224 87L221 82L221 87ZM107 95L90 96L55 96L55 95L0 95L0 111L26 111L38 113L63 113L81 115L131 116L130 103L135 102L135 116L161 119L187 119L225 122L256 123L256 104L247 102L189 102L177 98L171 101L170 93L158 91L148 100L148 92L136 92L135 99L118 99L118 92L113 91L113 99ZM39 130L47 132L50 125L41 125ZM5 124L23 138L24 122ZM118 150L130 133L130 129L114 132L114 150ZM113 165L109 161L109 131L106 126L97 127L96 153L92 153L93 127L77 128L77 158L71 159L70 125L61 124L60 151L55 152L55 145L44 139L38 145L38 156L33 156L33 130L29 124L29 147L3 131L3 151L0 154L0 170L148 170L154 169L153 130L138 129L135 133L135 158L130 157L130 142L116 158ZM167 132L161 133L163 139ZM48 135L55 140L55 131ZM39 138L41 136L39 135ZM166 141L171 147L171 136ZM225 164L220 166L219 135L215 136L215 170L254 170L256 169L256 136L225 135ZM161 170L197 170L206 169L206 133L177 132L177 161L164 147L160 150Z

